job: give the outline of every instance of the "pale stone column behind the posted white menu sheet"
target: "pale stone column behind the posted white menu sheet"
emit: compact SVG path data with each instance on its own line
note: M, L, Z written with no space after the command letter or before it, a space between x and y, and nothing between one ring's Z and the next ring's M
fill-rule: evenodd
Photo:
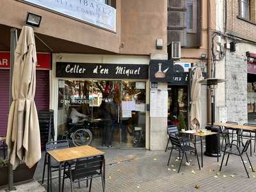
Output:
M150 54L150 60L168 60L168 54ZM158 83L159 90L167 91L168 83ZM163 102L164 103L164 102ZM150 150L164 150L167 143L167 118L150 117Z

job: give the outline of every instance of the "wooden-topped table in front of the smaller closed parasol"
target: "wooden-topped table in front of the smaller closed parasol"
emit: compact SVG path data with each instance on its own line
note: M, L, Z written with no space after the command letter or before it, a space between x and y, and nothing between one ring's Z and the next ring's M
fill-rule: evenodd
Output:
M212 131L195 132L195 130L180 131L180 132L193 135L195 137L195 147L196 147L196 136L200 137L200 143L201 143L201 166L203 167L204 166L204 161L203 161L203 140L202 140L202 138L205 137L205 136L210 136L210 135L219 134L219 133L218 132L212 132ZM218 150L219 150L219 148L220 148L220 143L218 143ZM217 161L219 162L219 155L217 155Z

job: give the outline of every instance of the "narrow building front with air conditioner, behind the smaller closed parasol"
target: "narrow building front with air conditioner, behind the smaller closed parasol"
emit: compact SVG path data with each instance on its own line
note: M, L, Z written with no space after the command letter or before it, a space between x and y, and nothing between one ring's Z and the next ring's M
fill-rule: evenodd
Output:
M211 17L208 20L208 17ZM177 81L170 83L169 100L170 114L175 114L175 109L185 116L187 128L189 124L189 101L190 90L189 76L190 67L200 67L204 76L207 77L207 66L209 63L209 31L215 29L215 1L201 0L169 0L168 1L168 56L173 60L174 70L177 72ZM173 42L180 42L181 51L177 58L173 51ZM211 62L211 60L210 60ZM210 64L211 65L211 64ZM181 66L181 67L180 67ZM182 81L186 76L186 81ZM180 80L180 81L179 81ZM174 101L173 101L174 100ZM176 100L176 101L175 101ZM202 122L200 128L203 129L207 124L207 88L202 86L201 91ZM173 122L173 115L170 115ZM210 122L210 121L209 121ZM193 127L192 127L193 128Z

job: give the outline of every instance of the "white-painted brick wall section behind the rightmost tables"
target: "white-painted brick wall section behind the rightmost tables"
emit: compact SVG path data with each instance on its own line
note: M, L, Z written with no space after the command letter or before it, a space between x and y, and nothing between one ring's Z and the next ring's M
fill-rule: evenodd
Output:
M226 54L227 120L247 123L247 63L243 56Z

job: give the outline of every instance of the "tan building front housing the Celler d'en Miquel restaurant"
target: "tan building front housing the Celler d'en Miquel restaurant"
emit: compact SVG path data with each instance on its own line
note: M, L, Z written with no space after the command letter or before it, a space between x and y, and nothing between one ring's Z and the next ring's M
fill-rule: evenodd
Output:
M10 7L12 14L4 14ZM168 60L166 10L166 1L153 0L4 0L0 2L0 51L10 52L10 29L16 28L19 36L28 12L40 15L40 26L34 28L36 51L49 55L51 61L49 68L36 72L36 94L43 95L35 101L38 111L54 110L55 139L67 134L71 111L76 109L92 124L92 145L101 147L104 103L113 114L113 147L163 150L167 110L151 113L161 102L167 103L168 83L152 87L149 64ZM164 73L167 68L163 65ZM0 72L6 76L0 89L8 93L8 72ZM4 134L4 123L1 130Z

